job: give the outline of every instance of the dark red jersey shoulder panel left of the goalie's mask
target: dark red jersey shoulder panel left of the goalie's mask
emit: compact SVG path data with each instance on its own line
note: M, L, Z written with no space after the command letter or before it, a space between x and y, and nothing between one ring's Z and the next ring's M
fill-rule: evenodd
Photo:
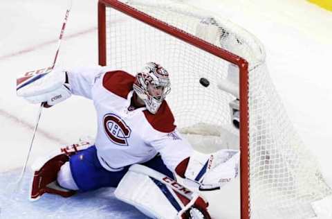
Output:
M102 79L102 85L113 94L127 99L129 92L133 89L134 76L125 71L109 71Z

